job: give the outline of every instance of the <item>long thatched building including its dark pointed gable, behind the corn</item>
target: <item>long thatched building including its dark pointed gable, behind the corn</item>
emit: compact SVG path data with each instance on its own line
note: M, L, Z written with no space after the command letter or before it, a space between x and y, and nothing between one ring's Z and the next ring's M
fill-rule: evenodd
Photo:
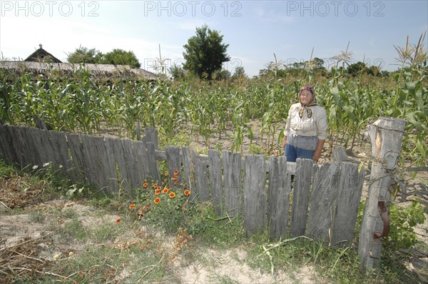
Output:
M156 80L158 76L144 69L133 69L129 65L113 64L71 64L62 63L55 56L41 48L36 50L24 61L0 61L0 69L14 71L31 71L47 73L52 70L70 73L78 69L86 69L98 78L133 78L137 80Z

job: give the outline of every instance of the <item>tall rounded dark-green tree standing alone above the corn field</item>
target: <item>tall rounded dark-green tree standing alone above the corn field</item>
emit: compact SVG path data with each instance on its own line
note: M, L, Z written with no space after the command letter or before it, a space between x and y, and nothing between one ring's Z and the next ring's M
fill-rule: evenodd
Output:
M196 35L190 37L183 46L183 68L200 78L212 78L215 71L221 70L223 62L230 61L226 54L229 45L222 44L222 41L223 36L207 25L196 28Z

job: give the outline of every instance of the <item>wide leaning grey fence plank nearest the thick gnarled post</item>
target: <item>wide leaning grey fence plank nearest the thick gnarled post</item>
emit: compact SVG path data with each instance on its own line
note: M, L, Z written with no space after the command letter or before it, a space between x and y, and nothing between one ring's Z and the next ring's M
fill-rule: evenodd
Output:
M332 245L347 246L354 239L364 176L365 169L362 168L358 172L357 163L341 163L336 210L331 230Z

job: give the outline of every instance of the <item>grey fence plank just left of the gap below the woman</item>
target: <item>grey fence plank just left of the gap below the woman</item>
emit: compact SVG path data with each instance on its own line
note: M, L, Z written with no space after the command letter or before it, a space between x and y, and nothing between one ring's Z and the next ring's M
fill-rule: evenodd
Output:
M267 225L270 238L275 239L287 233L291 186L287 177L287 159L284 156L270 156L269 161Z

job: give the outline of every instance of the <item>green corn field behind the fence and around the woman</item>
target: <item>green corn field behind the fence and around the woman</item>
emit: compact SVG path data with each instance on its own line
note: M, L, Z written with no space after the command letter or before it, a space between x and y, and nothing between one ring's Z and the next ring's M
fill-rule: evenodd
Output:
M0 69L0 118L4 123L35 126L34 115L56 131L101 134L118 128L136 138L136 128L158 128L163 145L176 137L198 135L210 148L210 137L233 131L231 151L253 138L250 121L260 121L267 154L282 140L288 108L300 86L315 86L317 103L329 118L329 141L352 148L364 141L362 131L379 116L403 118L403 159L427 163L427 67L404 67L389 77L349 76L333 69L329 77L265 76L238 81L136 81L100 79L85 69L63 74L52 70ZM279 138L278 138L279 136ZM183 143L183 142L182 142Z

